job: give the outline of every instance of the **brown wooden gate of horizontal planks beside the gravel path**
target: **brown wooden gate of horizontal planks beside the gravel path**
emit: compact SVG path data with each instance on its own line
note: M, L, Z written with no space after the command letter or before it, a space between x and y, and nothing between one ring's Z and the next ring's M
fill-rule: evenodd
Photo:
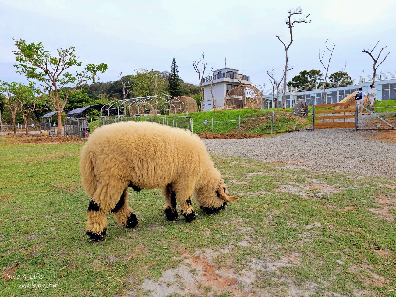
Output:
M326 109L333 107L333 109ZM320 121L320 122L315 122ZM358 128L355 102L340 102L314 105L312 131L328 128Z

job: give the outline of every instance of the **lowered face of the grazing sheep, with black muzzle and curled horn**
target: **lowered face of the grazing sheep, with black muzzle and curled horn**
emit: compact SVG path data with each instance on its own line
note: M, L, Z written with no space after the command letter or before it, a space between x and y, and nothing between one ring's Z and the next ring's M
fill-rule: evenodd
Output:
M229 196L227 185L221 179L216 187L204 187L194 192L198 206L207 213L217 213L225 209L227 202L234 201L241 196Z

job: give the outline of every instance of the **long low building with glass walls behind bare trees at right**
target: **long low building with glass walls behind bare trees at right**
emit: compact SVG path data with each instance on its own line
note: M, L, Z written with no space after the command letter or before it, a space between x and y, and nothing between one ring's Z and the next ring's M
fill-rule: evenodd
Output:
M350 86L326 89L324 101L325 103L338 103L351 93L358 91L360 87L367 93L370 89L370 84L371 82L362 82ZM377 100L396 100L396 76L391 79L388 78L375 82L375 88L377 89ZM272 89L265 90L263 93L263 104L261 105L261 109L276 108L276 105L273 104ZM282 95L282 93L279 93L278 96L279 107L282 107ZM285 107L293 107L294 103L299 99L304 99L309 106L322 104L323 91L320 89L311 89L306 91L287 92Z

